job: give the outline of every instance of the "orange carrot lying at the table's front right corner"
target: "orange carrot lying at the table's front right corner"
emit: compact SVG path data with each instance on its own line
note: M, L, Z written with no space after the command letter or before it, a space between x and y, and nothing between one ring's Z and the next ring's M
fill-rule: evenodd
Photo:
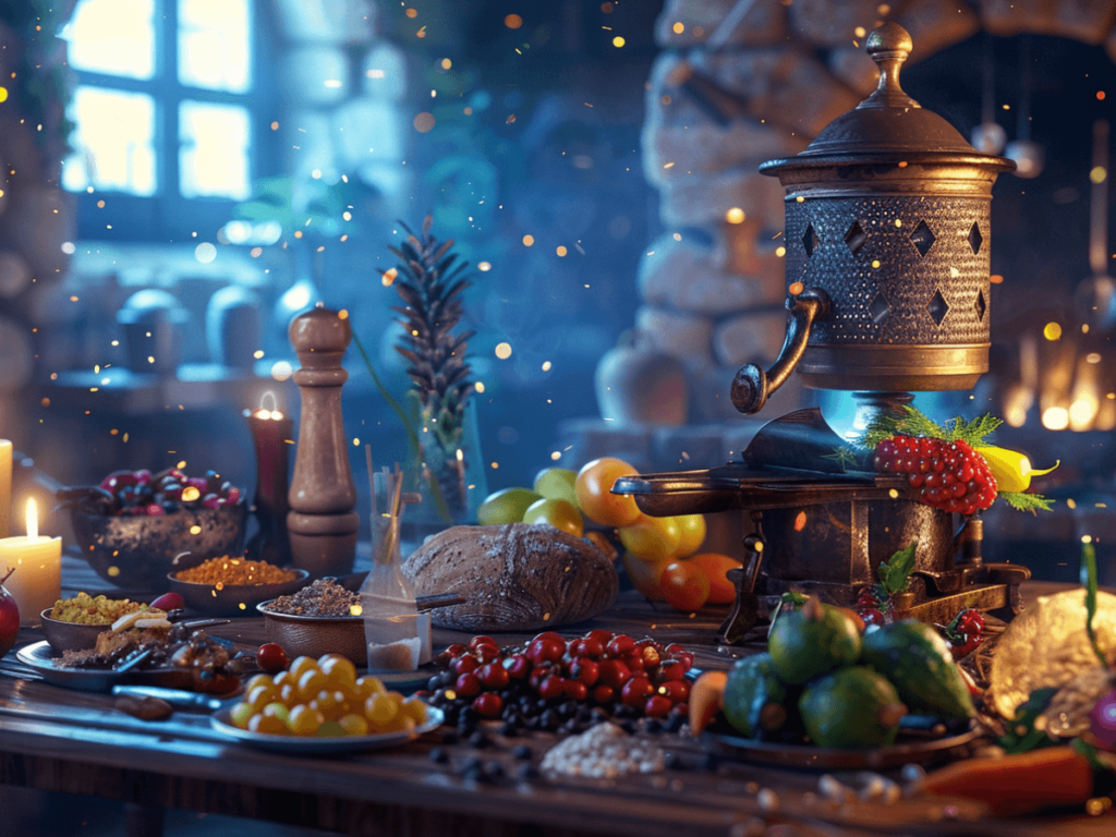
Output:
M984 802L997 815L1028 814L1084 805L1093 796L1093 767L1068 744L1047 747L999 759L955 762L927 776L922 790Z

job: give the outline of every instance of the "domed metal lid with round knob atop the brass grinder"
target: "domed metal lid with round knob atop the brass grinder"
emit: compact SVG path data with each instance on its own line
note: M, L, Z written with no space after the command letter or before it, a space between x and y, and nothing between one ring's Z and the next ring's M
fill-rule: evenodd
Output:
M1013 170L1011 160L981 154L949 122L903 92L899 67L913 46L911 35L898 23L888 21L873 31L865 44L879 68L879 85L873 94L822 128L801 154L763 163L760 172L778 174L785 169L841 162L886 162L896 155L912 163L944 156L953 163Z

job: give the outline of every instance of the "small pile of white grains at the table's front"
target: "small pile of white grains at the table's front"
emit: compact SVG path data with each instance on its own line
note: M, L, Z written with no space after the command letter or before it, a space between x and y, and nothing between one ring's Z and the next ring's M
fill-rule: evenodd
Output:
M656 773L665 764L666 757L657 747L605 722L551 748L541 767L559 776L615 779L627 773Z

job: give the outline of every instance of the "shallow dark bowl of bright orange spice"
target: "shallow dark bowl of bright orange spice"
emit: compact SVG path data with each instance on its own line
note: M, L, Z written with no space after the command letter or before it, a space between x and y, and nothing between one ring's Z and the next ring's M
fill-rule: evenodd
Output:
M186 607L193 610L247 616L261 602L295 593L308 578L309 573L305 569L225 555L171 573L166 580L171 591L182 596Z

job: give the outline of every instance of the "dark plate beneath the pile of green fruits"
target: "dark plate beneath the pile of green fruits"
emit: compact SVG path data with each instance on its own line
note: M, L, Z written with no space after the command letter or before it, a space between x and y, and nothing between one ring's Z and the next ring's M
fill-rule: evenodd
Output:
M810 744L779 744L754 741L718 732L706 732L702 739L706 749L727 758L754 761L778 767L812 770L878 770L903 764L926 763L944 758L955 748L964 747L978 737L975 728L944 738L911 738L891 747L866 750L839 750Z

